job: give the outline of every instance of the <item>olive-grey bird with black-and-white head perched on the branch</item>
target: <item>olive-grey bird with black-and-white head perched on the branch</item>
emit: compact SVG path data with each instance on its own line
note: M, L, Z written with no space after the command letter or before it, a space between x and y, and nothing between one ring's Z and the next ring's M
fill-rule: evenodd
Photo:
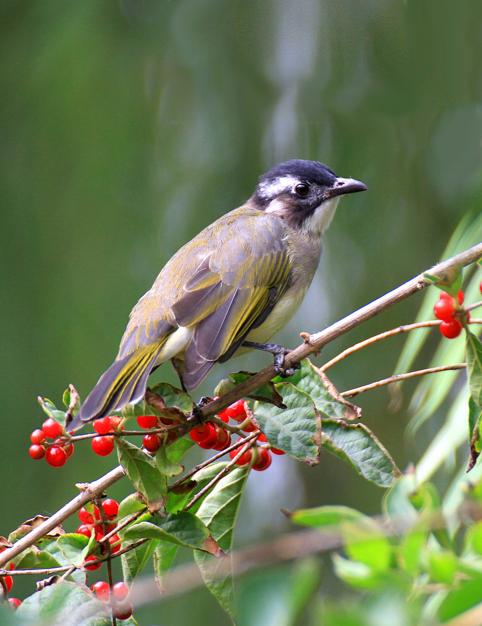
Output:
M172 361L192 392L217 363L267 344L299 308L318 267L322 235L342 195L367 190L327 165L294 159L259 177L241 207L218 218L163 267L130 314L118 355L67 426L120 411L145 394L149 374Z

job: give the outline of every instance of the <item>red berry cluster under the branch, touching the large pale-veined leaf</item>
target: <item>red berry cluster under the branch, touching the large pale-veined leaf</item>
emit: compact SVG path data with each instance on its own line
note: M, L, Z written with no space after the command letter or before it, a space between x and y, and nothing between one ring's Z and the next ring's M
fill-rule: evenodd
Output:
M215 398L216 399L216 398ZM238 424L242 424L244 421L246 423L241 427L241 430L245 433L252 433L256 430L254 424L250 421L247 421L247 411L246 411L246 403L244 400L238 400L237 402L228 406L227 409L221 411L218 415L222 421L227 424L230 419L233 419ZM213 450L225 450L229 448L231 445L231 436L228 433L227 429L218 426L217 424L212 424L210 422L205 422L201 426L192 429L190 432L190 436L195 441L200 448L205 450L213 449ZM269 468L272 457L271 453L274 454L284 454L282 450L277 448L272 448L268 443L265 435L260 433L256 439L257 446L256 448L250 448L247 450L240 458L236 461L236 464L239 466L249 465L251 462L253 453L256 454L256 458L253 464L253 469L257 471L263 471L264 469ZM266 446L259 446L259 443L265 443ZM239 449L231 450L229 455L231 459L235 458L239 452Z

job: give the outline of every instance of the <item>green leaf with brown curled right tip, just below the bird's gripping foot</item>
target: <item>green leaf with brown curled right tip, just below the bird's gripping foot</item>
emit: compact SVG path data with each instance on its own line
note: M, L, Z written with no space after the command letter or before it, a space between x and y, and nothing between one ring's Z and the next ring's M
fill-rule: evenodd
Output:
M361 417L361 409L343 398L334 398L329 393L320 372L309 359L301 361L300 369L289 378L275 378L275 381L290 382L307 393L315 403L315 407L333 419L357 419ZM333 387L334 389L334 387ZM335 390L336 391L336 390ZM336 392L337 393L337 392Z

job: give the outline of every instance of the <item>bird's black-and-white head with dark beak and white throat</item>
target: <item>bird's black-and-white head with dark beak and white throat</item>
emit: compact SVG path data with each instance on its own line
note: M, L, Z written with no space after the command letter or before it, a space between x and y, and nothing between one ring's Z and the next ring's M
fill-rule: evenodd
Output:
M250 202L259 210L277 213L291 227L319 237L329 227L340 196L366 189L364 183L341 178L323 163L294 159L260 176Z

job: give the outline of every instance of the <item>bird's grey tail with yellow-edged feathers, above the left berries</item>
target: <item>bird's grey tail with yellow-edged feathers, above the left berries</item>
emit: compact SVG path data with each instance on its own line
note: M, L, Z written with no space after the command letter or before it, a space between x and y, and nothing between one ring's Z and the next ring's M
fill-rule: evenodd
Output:
M72 433L111 411L119 411L130 402L138 402L145 393L147 378L161 350L159 344L147 346L114 361L67 426L67 432Z

